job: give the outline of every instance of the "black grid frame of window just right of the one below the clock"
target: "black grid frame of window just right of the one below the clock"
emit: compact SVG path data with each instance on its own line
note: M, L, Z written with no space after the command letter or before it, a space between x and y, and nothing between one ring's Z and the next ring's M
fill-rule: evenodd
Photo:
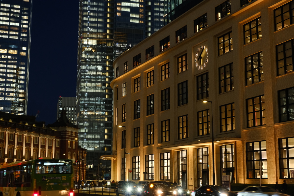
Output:
M227 67L229 67L229 71L227 71ZM221 69L223 69L223 73L221 72ZM233 72L234 68L233 68L233 63L229 63L227 65L224 65L222 67L218 68L218 83L219 83L219 93L225 93L228 91L232 91L234 90L234 72ZM226 73L229 72L229 78L226 78ZM221 74L223 74L224 78L221 78ZM229 84L227 84L229 80ZM223 86L222 86L222 81L223 81ZM229 86L229 90L227 89L227 87ZM223 91L222 91L223 88Z

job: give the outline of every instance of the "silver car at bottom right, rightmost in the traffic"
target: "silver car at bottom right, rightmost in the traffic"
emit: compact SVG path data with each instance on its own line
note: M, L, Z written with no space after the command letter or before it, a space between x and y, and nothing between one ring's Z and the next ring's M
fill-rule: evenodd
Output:
M277 192L275 189L271 187L264 187L264 186L246 187L245 189L238 192L238 196L268 196L268 195L289 196L287 194Z

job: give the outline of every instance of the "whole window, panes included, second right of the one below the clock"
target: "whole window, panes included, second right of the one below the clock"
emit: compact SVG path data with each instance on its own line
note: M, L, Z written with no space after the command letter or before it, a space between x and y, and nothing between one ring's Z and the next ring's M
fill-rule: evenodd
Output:
M246 85L263 81L263 58L262 52L245 58Z

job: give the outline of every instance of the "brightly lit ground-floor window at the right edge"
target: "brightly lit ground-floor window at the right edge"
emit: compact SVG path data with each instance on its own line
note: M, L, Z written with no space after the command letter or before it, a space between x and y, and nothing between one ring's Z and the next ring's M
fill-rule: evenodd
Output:
M294 137L279 139L280 178L294 178Z

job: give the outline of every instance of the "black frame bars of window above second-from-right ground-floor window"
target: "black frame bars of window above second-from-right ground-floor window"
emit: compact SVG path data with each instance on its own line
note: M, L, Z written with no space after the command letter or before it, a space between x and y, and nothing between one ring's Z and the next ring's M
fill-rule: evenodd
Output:
M263 121L265 121L265 116L263 115L263 113L265 112L265 109L264 109L265 105L263 105L263 104L265 104L265 102L262 102L262 97L263 97L263 100L264 100L264 95L260 95L260 96L256 96L256 97L246 99L246 114L247 114L246 116L247 116L247 127L248 128L249 127L258 127L258 126L265 125L265 124L263 124ZM259 103L258 104L260 105L259 106L260 110L258 111L258 113L259 113L259 116L260 116L260 118L259 118L260 125L255 125L255 123L257 121L257 119L255 118L256 115L254 114L254 113L257 113L257 112L253 111L253 109L256 110L255 98L259 98ZM252 105L251 105L252 112L249 112L249 110L248 110L248 108L250 106L250 105L248 105L249 100L252 100ZM252 126L249 126L249 114L252 114L252 116L253 116L253 119L252 119L253 125Z

